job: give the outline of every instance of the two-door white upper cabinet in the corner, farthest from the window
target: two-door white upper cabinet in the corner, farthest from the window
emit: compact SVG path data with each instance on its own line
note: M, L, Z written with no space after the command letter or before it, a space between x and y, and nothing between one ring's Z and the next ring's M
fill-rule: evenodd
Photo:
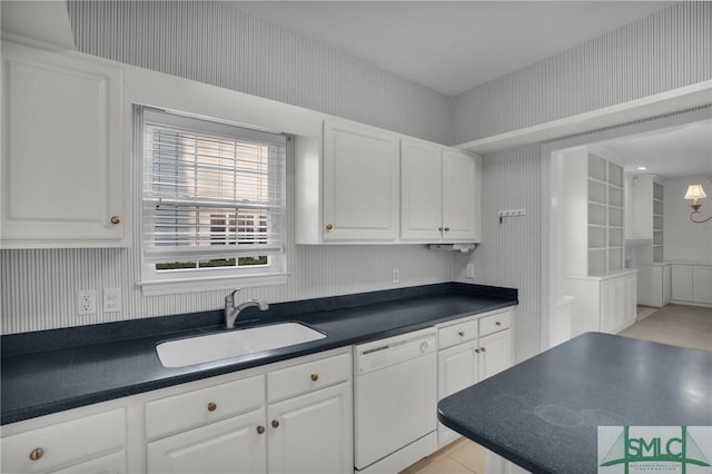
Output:
M423 140L400 142L400 239L478 243L481 158Z

